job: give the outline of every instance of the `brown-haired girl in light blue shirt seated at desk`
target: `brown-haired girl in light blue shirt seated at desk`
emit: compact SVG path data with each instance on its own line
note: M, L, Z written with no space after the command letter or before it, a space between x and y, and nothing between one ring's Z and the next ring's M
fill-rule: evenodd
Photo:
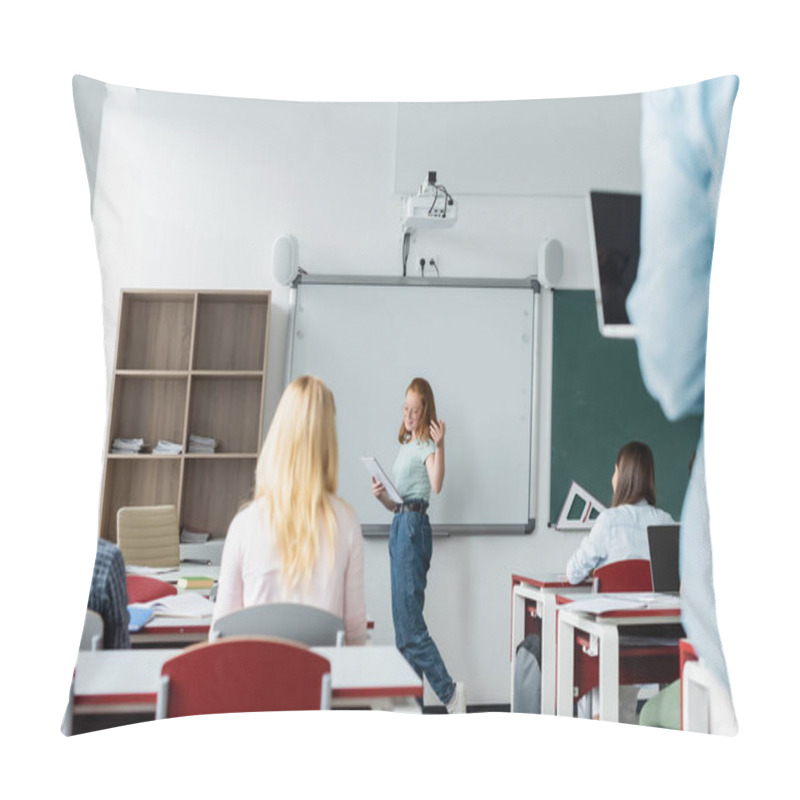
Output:
M619 451L611 486L611 508L598 515L591 532L567 563L570 583L580 583L603 564L649 559L647 527L674 522L666 511L656 508L655 464L646 444L629 442Z

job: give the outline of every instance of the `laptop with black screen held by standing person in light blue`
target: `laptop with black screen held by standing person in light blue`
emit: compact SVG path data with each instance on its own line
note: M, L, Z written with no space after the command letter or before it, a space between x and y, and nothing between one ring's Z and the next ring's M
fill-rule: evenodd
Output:
M625 309L639 267L642 196L590 191L589 238L597 302L597 323L603 336L632 338Z

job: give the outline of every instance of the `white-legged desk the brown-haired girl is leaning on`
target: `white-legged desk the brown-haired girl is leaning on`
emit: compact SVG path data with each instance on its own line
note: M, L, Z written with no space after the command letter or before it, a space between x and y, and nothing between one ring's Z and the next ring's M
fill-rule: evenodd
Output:
M511 710L514 710L514 669L517 646L526 635L542 637L542 714L556 713L556 605L557 595L591 591L587 580L572 586L563 574L534 573L511 576Z

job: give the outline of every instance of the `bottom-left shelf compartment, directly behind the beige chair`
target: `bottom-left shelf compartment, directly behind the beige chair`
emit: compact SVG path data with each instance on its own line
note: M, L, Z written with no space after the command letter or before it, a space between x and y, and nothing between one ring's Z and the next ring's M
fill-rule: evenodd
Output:
M117 511L124 506L178 507L181 461L179 458L109 458L103 487L100 535L117 540Z

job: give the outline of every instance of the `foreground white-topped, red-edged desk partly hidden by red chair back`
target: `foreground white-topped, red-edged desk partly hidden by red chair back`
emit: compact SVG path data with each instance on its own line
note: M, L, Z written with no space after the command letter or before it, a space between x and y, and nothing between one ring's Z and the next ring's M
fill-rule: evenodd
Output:
M421 712L422 680L392 646L312 647L331 664L334 708ZM81 650L73 714L155 713L162 664L179 648Z

